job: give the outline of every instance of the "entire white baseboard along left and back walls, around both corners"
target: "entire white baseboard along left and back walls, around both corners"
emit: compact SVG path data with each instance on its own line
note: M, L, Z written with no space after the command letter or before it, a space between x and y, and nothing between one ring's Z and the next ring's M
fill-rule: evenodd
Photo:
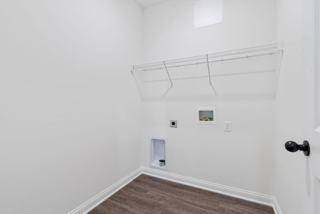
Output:
M147 168L147 167L140 167L134 172L130 173L126 177L122 178L118 182L114 183L112 186L108 187L107 189L103 190L96 196L92 197L82 205L78 206L77 208L70 211L68 214L84 214L91 211L97 205L102 203L104 200L109 198L115 192L123 188L129 182L134 180L140 174L146 174L153 177L158 177L161 179L169 180L176 183L185 184L188 186L193 186L200 189L205 189L212 192L217 192L220 194L252 201L255 203L260 203L263 205L271 206L273 208L274 214L282 214L281 209L275 199L274 196L260 194L252 191L246 191L243 189L233 188L229 186L224 186L216 183L211 183L203 180L198 180L190 177L185 177L181 175L176 175L172 173L168 173L166 171L161 171L157 169Z

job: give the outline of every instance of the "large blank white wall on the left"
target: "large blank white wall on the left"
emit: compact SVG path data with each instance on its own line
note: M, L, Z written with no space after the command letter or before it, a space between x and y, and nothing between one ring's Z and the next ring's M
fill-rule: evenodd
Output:
M133 0L1 1L0 213L67 213L141 166Z

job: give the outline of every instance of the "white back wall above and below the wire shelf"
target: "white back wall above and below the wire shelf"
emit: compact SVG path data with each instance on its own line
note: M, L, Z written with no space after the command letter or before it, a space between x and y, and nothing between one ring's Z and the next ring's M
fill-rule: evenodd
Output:
M192 7L193 1L173 0L143 11L144 63L276 42L274 1L225 0L224 23L195 30ZM196 107L216 107L217 124L196 124ZM143 112L143 166L149 166L148 137L166 137L168 172L274 194L274 98L177 97L143 101ZM231 132L224 132L224 121Z

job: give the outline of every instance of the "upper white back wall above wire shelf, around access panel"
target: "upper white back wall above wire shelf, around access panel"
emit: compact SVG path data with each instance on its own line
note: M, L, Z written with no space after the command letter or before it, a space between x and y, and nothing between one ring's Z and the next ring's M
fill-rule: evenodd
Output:
M193 2L143 10L144 63L275 43L275 1L224 0L224 23L199 29L193 28Z

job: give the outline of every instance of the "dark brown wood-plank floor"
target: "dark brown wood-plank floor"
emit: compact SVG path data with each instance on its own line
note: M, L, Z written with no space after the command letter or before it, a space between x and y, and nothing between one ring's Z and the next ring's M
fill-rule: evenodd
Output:
M143 174L89 212L106 213L274 214L270 206Z

